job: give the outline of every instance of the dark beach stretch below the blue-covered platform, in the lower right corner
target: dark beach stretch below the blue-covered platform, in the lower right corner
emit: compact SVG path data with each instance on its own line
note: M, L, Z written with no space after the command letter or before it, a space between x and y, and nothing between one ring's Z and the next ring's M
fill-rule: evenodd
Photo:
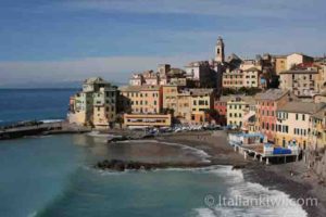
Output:
M308 216L324 217L326 216L326 188L319 186L316 176L303 167L306 168L303 162L269 166L251 164L242 171L247 181L283 191L296 201L316 199L317 206L305 204L301 207L308 213ZM291 176L290 173L294 175ZM304 178L306 173L310 174L309 179Z

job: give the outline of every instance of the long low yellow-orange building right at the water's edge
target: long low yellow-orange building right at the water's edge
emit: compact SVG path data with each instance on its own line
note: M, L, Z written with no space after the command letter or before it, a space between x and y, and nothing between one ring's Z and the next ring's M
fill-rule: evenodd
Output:
M124 126L137 127L170 127L171 114L124 114Z

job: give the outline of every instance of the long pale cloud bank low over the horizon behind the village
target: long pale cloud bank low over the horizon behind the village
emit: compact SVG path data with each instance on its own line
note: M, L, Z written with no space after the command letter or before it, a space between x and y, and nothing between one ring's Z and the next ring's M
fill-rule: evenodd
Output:
M111 56L87 58L71 61L0 62L0 87L26 86L28 82L78 81L102 76L115 82L127 82L131 73L155 69L160 63L183 67L193 60L204 60L204 54L176 56Z

